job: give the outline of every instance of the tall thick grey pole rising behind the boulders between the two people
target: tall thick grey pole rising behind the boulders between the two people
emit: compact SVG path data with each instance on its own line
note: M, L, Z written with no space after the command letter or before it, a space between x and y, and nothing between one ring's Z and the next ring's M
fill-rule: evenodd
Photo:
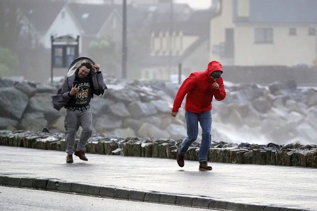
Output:
M126 0L122 3L122 78L126 78L126 58L128 47L126 46Z

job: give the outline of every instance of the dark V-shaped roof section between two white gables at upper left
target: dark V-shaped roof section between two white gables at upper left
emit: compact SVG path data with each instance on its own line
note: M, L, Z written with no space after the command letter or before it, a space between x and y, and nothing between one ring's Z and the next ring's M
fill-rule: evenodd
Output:
M28 0L17 2L18 8L39 32L46 32L48 30L57 14L66 4L64 0Z

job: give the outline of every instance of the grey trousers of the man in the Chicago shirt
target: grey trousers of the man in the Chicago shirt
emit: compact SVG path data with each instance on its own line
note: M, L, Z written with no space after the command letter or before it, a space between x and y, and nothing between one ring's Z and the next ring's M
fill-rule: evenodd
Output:
M80 112L79 110L72 111L67 109L65 115L65 140L67 144L66 153L73 154L76 132L79 126L83 128L80 134L77 151L85 148L86 142L92 133L92 113L88 109Z

